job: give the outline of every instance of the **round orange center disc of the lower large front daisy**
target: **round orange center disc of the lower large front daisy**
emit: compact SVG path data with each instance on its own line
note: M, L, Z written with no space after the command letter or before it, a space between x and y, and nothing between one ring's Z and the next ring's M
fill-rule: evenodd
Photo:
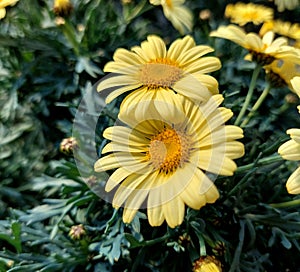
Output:
M173 172L189 157L190 141L183 132L165 128L150 141L147 158L155 169L168 174Z

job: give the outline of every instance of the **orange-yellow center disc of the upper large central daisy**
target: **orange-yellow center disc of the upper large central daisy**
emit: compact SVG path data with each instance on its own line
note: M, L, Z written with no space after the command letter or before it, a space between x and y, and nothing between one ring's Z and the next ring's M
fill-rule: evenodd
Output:
M167 59L156 59L141 66L140 81L148 88L171 88L181 77L183 71Z

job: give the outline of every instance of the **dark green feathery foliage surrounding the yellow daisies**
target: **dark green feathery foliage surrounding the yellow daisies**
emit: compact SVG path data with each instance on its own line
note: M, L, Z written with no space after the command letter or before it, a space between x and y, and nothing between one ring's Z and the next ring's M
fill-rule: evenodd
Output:
M20 0L0 21L0 271L192 271L206 254L224 271L300 271L299 197L285 188L296 164L268 161L288 139L286 129L300 127L298 98L287 99L288 89L272 90L245 128L247 156L237 161L236 175L216 180L221 197L215 204L188 209L175 229L150 227L143 211L126 225L97 195L104 177L87 172L82 178L72 147L61 152L60 144L72 136L82 96L117 48L140 44L151 33L166 42L180 35L146 0L71 2L70 14L59 17L52 0ZM214 76L236 115L253 64L237 45L208 37L226 23L230 2L186 5L194 15L191 35L213 46L222 61ZM206 9L210 17L199 18ZM299 8L275 14L293 22L299 15ZM257 96L264 82L261 75ZM111 107L113 116L104 113L97 127L100 146L117 114Z

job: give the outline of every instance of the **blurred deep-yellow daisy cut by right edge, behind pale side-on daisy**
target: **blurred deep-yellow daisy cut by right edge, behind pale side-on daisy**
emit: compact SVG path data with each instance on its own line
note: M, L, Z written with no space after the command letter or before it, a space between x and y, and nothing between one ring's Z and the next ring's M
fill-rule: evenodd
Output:
M265 22L261 27L259 34L263 36L268 31L273 31L276 34L286 37L289 44L297 48L300 47L300 25L297 23L284 22L281 20L272 20Z

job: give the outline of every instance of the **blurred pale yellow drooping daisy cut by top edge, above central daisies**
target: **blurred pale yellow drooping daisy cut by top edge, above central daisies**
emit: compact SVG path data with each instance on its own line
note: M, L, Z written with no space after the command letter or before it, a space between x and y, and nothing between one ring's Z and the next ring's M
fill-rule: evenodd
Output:
M150 0L150 4L163 8L164 15L183 35L193 28L193 14L185 7L185 0Z

